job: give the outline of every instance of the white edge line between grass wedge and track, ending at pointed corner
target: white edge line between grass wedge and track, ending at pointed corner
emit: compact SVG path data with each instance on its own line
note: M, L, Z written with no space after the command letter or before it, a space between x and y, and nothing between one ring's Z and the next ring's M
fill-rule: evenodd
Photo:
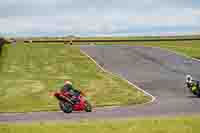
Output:
M85 51L83 51L80 48L81 53L83 53L85 56L87 56L90 60L92 60L103 72L109 73L111 75L117 76L119 78L121 78L122 80L126 81L128 84L130 84L131 86L133 86L134 88L138 89L139 91L142 91L145 95L150 96L152 99L151 101L144 103L144 104L149 104L149 103L153 103L156 100L156 97L154 97L153 95L151 95L150 93L148 93L147 91L143 90L142 88L138 87L137 85L131 83L129 80L125 79L124 77L118 75L118 74L114 74L108 70L105 70L102 66L100 66L91 56L89 56Z

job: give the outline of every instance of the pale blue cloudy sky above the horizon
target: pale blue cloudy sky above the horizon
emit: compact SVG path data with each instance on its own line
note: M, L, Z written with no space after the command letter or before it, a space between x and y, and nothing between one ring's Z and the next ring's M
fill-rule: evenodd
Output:
M0 36L200 33L199 0L4 0Z

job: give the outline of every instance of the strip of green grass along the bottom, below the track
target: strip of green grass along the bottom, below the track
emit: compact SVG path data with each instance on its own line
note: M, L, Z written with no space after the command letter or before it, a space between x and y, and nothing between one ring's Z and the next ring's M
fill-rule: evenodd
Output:
M0 124L1 133L199 133L200 117Z

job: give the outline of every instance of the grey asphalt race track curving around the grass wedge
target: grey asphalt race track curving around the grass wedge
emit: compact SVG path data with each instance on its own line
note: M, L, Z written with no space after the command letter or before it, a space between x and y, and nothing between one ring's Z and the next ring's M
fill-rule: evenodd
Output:
M120 75L156 100L129 107L97 108L91 113L2 113L0 122L80 120L200 114L200 98L184 86L185 75L200 79L200 62L160 48L142 46L81 46L104 69Z

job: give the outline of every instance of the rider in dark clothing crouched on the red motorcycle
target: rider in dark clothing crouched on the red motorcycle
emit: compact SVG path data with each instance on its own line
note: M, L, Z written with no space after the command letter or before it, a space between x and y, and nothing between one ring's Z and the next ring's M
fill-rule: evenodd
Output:
M78 96L80 95L81 92L73 87L72 82L65 80L64 86L61 87L60 91L64 93L68 92L71 95L72 102L74 103L80 102Z

